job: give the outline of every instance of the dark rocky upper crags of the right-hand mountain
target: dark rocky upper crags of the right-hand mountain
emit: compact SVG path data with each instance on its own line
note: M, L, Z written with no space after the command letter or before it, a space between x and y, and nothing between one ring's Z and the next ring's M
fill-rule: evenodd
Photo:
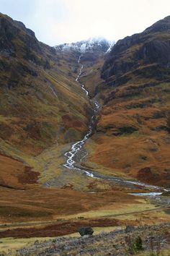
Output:
M169 67L170 61L170 17L156 22L148 27L143 33L128 36L123 40L119 40L112 51L102 69L102 77L107 79L114 78L115 82L122 83L123 75L125 82L128 80L128 72L134 74L138 70L138 74L142 75L141 69L150 65L153 77L166 79L166 77L158 77L156 70L162 66ZM152 67L151 67L152 65ZM139 70L140 69L140 70ZM155 72L154 72L155 71ZM117 81L118 80L118 81Z

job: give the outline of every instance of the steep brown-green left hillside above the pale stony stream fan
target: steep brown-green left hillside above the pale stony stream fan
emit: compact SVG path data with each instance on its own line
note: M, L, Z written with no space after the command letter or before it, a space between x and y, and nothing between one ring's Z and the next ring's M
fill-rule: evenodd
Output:
M1 140L37 155L81 138L91 107L55 48L3 14L0 28Z

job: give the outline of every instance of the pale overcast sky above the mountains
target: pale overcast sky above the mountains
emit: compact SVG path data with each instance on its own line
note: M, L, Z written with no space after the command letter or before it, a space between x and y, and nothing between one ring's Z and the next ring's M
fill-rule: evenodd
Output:
M0 0L0 12L55 46L95 36L118 40L170 15L169 0Z

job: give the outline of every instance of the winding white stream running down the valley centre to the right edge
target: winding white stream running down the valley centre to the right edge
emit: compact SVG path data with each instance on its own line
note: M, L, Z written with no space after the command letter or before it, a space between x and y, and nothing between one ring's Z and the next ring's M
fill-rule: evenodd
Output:
M79 56L78 64L81 64L80 63L81 56L82 55ZM83 69L84 69L84 65L81 64L81 69L79 71L78 76L76 77L76 82L79 82L79 78L81 77ZM79 83L81 85L81 89L84 90L84 93L86 93L86 96L88 97L89 96L88 90L86 90L86 88L84 88L84 85L82 85L81 82L79 82ZM92 114L90 122L89 122L89 129L88 129L86 135L84 136L84 138L82 140L79 140L78 142L74 143L73 145L71 145L71 150L69 150L68 152L66 152L64 154L66 156L66 163L64 163L63 166L65 166L66 168L70 168L75 171L84 173L86 176L89 176L91 178L108 180L110 182L115 182L116 184L120 184L121 186L124 186L124 187L133 187L134 188L135 186L140 186L140 187L145 187L148 189L154 189L154 192L132 193L132 195L150 197L151 199L160 201L161 194L163 192L170 191L170 189L154 186L151 184L146 184L143 182L138 182L136 180L126 180L126 179L122 179L120 177L107 176L104 174L99 174L99 173L97 173L97 171L95 172L95 171L91 171L91 169L81 167L80 163L81 163L82 159L85 158L86 155L88 155L88 153L86 153L83 150L83 146L86 143L86 140L88 140L92 134L93 127L94 127L94 121L96 119L97 112L99 111L99 108L100 108L98 101L92 101L92 103L94 106L94 111L93 111L93 114ZM79 160L77 161L78 155L79 155ZM168 197L166 199L166 204L170 205L170 199Z

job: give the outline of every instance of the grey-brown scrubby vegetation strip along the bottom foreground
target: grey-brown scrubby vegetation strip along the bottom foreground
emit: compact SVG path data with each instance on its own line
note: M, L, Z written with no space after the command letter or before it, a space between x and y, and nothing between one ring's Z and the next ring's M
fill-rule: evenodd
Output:
M111 232L100 232L94 236L75 234L45 240L12 242L19 249L6 250L2 255L169 255L169 224L158 226L127 226ZM20 244L19 244L20 242ZM5 241L4 241L5 243ZM2 246L3 248L3 246ZM5 248L5 244L4 244ZM107 250L106 250L107 248ZM7 246L6 246L7 249Z

